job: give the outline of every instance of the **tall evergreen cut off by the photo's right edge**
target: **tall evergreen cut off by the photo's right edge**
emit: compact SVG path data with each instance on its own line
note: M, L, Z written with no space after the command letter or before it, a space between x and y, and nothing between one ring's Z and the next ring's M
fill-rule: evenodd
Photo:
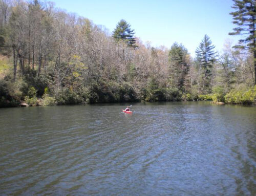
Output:
M256 84L256 1L255 0L233 0L233 24L239 27L234 28L234 32L229 35L247 35L246 38L239 40L239 46L235 48L249 49L254 57L254 83Z

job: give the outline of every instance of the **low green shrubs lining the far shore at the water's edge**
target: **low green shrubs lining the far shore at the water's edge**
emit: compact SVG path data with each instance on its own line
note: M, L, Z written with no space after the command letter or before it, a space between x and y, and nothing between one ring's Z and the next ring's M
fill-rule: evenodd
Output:
M109 86L110 87L110 86ZM126 86L127 87L127 86ZM113 86L112 86L113 88ZM122 88L119 86L119 88ZM60 97L53 97L48 94L48 89L45 89L45 93L41 98L36 96L35 88L30 88L27 96L25 96L25 101L18 100L5 100L2 97L0 102L1 107L13 107L13 106L47 106L47 105L65 105L65 104L90 104L90 103L115 103L115 102L168 102L168 101L213 101L217 104L250 104L256 105L256 85L249 90L240 89L232 90L231 92L224 94L207 94L207 95L191 95L189 93L182 94L178 89L157 89L154 91L147 91L140 94L141 97L130 89L130 92L122 91L123 89L118 89L116 86L115 91L98 91L97 93L87 94L87 98L82 99L82 97L68 91L64 92ZM146 96L145 96L146 95ZM92 97L94 96L94 97Z

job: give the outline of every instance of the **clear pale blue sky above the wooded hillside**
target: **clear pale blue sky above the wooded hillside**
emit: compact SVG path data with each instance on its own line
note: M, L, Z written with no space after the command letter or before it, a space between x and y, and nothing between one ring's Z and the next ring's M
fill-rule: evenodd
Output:
M235 27L229 14L231 0L53 0L56 7L87 17L111 33L120 19L135 30L135 36L154 47L170 48L182 43L194 56L195 50L207 34L216 50L226 40L236 43L239 36L230 36Z

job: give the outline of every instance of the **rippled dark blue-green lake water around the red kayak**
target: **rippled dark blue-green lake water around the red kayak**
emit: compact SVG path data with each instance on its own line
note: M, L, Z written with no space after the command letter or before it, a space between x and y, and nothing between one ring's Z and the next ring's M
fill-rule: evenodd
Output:
M256 195L256 107L0 109L0 195Z

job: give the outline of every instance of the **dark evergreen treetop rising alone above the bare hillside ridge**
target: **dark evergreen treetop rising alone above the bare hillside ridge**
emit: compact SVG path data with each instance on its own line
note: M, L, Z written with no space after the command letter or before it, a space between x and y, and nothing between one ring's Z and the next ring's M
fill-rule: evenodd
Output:
M127 43L128 46L135 47L135 37L134 37L134 29L131 29L131 25L128 24L124 19L121 19L115 30L113 31L113 37L119 41L123 40Z

